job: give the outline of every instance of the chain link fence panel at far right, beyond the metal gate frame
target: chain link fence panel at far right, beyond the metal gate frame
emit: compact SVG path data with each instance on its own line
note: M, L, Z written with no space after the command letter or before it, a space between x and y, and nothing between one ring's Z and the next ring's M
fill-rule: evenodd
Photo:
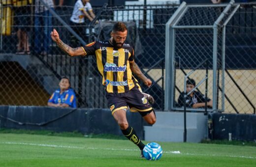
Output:
M255 3L239 6L226 25L225 41L226 96L239 113L256 113ZM225 112L234 112L234 108L226 105Z

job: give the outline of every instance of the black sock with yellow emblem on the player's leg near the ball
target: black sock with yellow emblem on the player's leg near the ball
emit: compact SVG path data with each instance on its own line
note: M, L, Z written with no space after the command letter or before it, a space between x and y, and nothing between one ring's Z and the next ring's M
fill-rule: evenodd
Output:
M141 142L135 130L131 126L128 126L128 128L126 130L122 130L122 132L125 137L127 137L127 139L131 140L134 144L136 144L140 150L144 148L145 145L143 144L143 142Z

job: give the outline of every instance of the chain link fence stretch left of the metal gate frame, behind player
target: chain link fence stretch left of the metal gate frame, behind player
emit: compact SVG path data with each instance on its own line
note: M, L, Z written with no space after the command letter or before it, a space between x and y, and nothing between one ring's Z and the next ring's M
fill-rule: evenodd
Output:
M41 0L38 4L0 2L1 105L46 106L50 95L59 88L61 77L66 76L79 107L107 108L96 58L64 55L49 40L50 31L56 28L64 43L79 47L94 40L108 40L113 23L123 21L128 25L127 42L134 47L136 62L153 81L149 89L144 83L140 85L155 98L153 107L163 110L165 23L178 6L104 5L93 8L93 22L86 19L85 23L74 25L70 23L74 6L51 8ZM38 7L41 11L35 12Z

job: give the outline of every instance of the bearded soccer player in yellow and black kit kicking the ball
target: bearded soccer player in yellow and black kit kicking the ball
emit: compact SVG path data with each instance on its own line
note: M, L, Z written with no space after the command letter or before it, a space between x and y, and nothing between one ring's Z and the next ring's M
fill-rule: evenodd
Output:
M156 114L147 99L139 91L132 73L141 79L148 87L152 82L140 70L134 60L133 48L125 43L127 27L118 22L113 26L111 38L107 41L95 41L86 46L71 48L60 39L56 29L51 36L53 41L69 56L95 55L97 68L102 75L102 84L107 91L106 98L110 111L117 121L125 137L136 144L143 157L144 144L135 130L129 126L126 111L138 111L149 124L156 122Z

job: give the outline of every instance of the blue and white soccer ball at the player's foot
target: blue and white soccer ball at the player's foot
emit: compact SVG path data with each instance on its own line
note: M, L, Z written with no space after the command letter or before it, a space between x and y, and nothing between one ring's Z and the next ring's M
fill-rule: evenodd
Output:
M162 148L156 142L150 142L143 148L143 155L147 160L160 160L162 157Z

